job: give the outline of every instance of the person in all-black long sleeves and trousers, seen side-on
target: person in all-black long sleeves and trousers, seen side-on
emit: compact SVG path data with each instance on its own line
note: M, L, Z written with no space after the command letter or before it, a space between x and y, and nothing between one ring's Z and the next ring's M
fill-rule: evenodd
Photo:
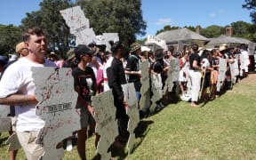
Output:
M127 140L129 132L127 131L129 116L126 115L125 108L127 103L124 100L124 92L122 90L122 84L126 84L126 78L124 74L124 67L122 58L124 58L125 49L124 44L121 42L111 42L111 52L113 54L113 60L109 68L107 68L108 86L112 89L114 96L114 104L116 107L116 119L119 130L119 140Z

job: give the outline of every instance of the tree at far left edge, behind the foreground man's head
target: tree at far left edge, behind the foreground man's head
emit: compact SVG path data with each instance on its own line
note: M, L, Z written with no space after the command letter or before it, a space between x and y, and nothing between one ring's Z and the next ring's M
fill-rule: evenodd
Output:
M16 44L22 40L20 27L0 25L0 35L0 53L3 55L14 53Z

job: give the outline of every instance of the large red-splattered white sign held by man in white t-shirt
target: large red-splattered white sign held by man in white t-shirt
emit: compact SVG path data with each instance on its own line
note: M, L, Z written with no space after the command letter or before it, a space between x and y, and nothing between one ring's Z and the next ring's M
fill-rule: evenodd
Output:
M44 148L43 159L61 159L64 149L57 145L81 128L71 68L32 68L32 72L39 101L36 115L45 122L36 143Z

